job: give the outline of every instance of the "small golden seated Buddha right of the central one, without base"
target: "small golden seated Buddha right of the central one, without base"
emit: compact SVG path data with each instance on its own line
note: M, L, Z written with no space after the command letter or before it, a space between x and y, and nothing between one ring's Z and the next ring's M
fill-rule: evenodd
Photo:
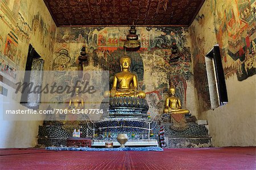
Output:
M166 98L163 112L171 114L188 114L189 110L181 109L181 102L178 97L175 97L175 87L173 85L170 86L169 93L170 97Z

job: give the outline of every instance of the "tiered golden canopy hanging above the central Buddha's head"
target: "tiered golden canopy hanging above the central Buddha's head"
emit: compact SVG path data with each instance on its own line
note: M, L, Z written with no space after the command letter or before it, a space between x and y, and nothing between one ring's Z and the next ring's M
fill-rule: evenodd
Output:
M131 30L129 30L130 34L126 36L127 41L123 44L123 48L125 51L137 51L141 48L141 42L139 42L139 36L136 35L137 30L135 26L131 26Z

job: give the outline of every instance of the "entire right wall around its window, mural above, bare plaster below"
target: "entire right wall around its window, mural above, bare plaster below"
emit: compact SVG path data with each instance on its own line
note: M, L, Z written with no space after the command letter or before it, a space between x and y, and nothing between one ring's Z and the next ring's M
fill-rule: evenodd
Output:
M256 2L205 1L189 27L199 119L207 119L213 146L256 146ZM205 55L220 45L228 104L210 110Z

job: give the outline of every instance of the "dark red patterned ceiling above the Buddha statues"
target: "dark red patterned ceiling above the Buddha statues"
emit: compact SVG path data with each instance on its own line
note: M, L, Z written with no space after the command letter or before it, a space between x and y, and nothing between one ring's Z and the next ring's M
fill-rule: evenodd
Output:
M44 0L57 27L190 26L205 0Z

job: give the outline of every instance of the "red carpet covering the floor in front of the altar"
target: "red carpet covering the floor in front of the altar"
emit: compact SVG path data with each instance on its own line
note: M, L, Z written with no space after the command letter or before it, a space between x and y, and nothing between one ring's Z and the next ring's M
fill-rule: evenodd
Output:
M256 169L255 147L173 148L163 152L2 149L0 169Z

